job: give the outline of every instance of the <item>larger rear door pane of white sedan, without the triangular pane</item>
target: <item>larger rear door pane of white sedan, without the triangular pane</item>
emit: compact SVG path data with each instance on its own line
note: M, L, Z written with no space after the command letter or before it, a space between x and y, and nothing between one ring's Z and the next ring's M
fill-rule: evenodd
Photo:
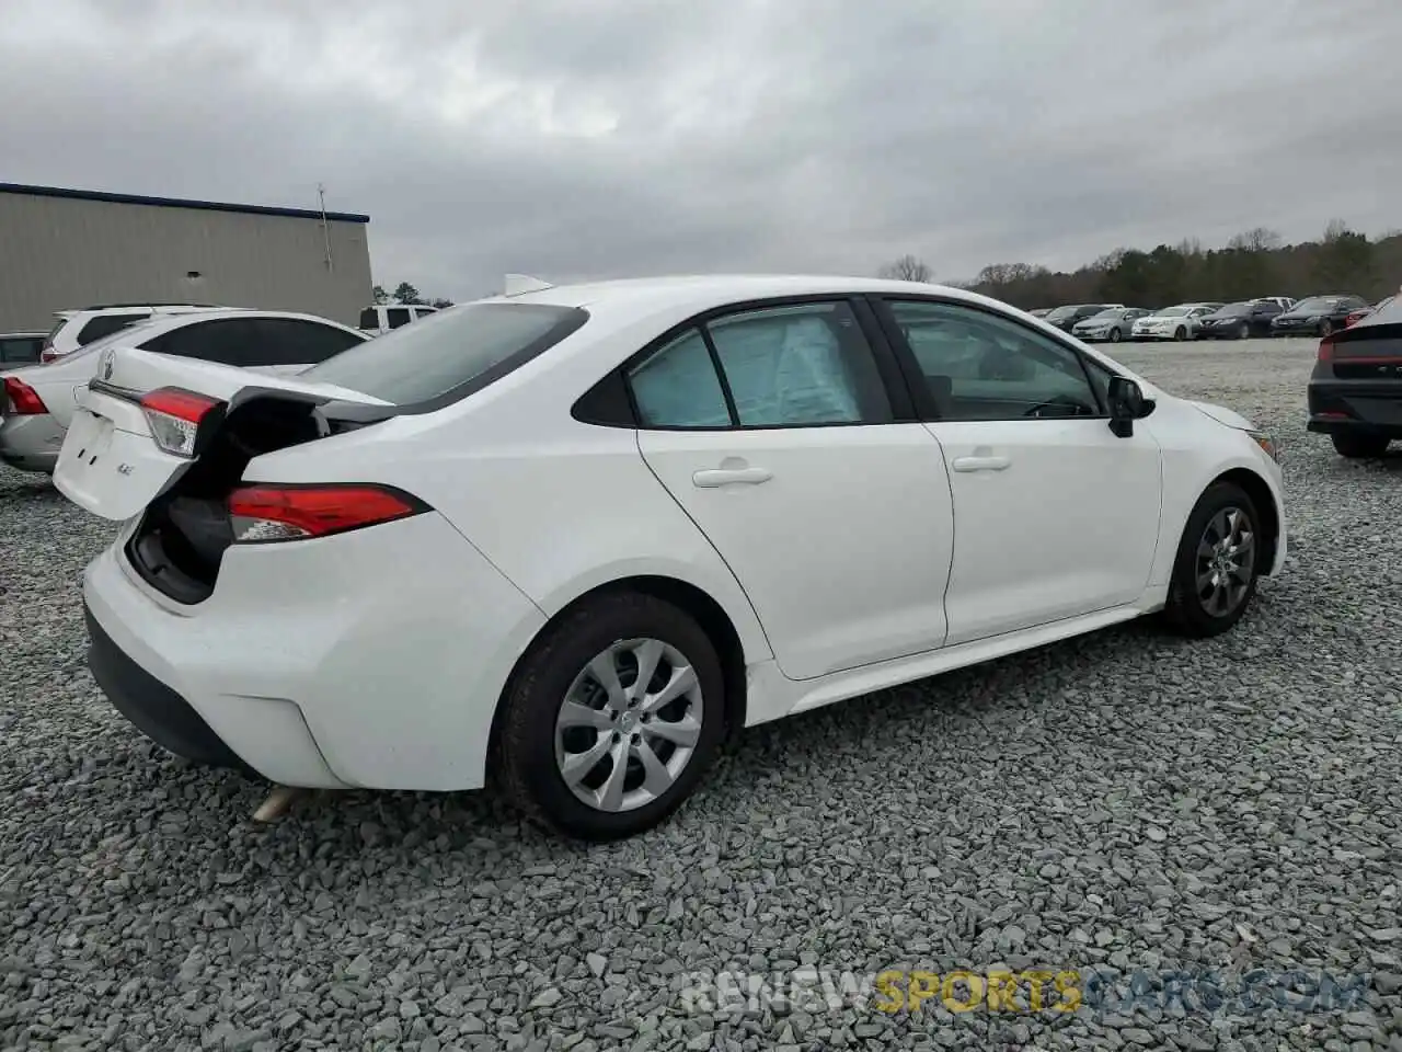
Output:
M885 424L876 359L847 303L805 303L707 324L740 426Z

